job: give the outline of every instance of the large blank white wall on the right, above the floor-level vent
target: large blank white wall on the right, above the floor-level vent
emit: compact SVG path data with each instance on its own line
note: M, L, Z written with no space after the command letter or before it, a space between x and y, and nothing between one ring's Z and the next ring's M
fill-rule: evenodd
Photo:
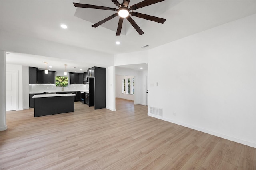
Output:
M256 14L150 50L149 106L163 109L160 119L256 147L255 49Z

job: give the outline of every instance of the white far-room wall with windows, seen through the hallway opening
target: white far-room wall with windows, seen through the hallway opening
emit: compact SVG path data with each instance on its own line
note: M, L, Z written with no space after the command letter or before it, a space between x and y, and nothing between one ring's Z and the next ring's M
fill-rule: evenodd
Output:
M132 85L132 79L134 76L124 76L124 75L116 75L116 98L122 98L127 100L133 100L134 101L134 95L133 94L124 94L122 93L122 82L124 79L130 78L131 85ZM135 80L134 80L134 86L135 86ZM126 84L126 88L128 89L128 85ZM132 86L130 86L130 90L132 90ZM127 92L127 91L126 91ZM134 93L136 93L134 88Z

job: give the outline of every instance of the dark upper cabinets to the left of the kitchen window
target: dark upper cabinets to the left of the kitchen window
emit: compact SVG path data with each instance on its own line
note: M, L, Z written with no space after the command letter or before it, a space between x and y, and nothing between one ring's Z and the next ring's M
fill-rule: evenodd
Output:
M44 70L38 70L36 67L29 67L28 78L29 84L54 84L55 71L48 71L48 74L44 74Z

